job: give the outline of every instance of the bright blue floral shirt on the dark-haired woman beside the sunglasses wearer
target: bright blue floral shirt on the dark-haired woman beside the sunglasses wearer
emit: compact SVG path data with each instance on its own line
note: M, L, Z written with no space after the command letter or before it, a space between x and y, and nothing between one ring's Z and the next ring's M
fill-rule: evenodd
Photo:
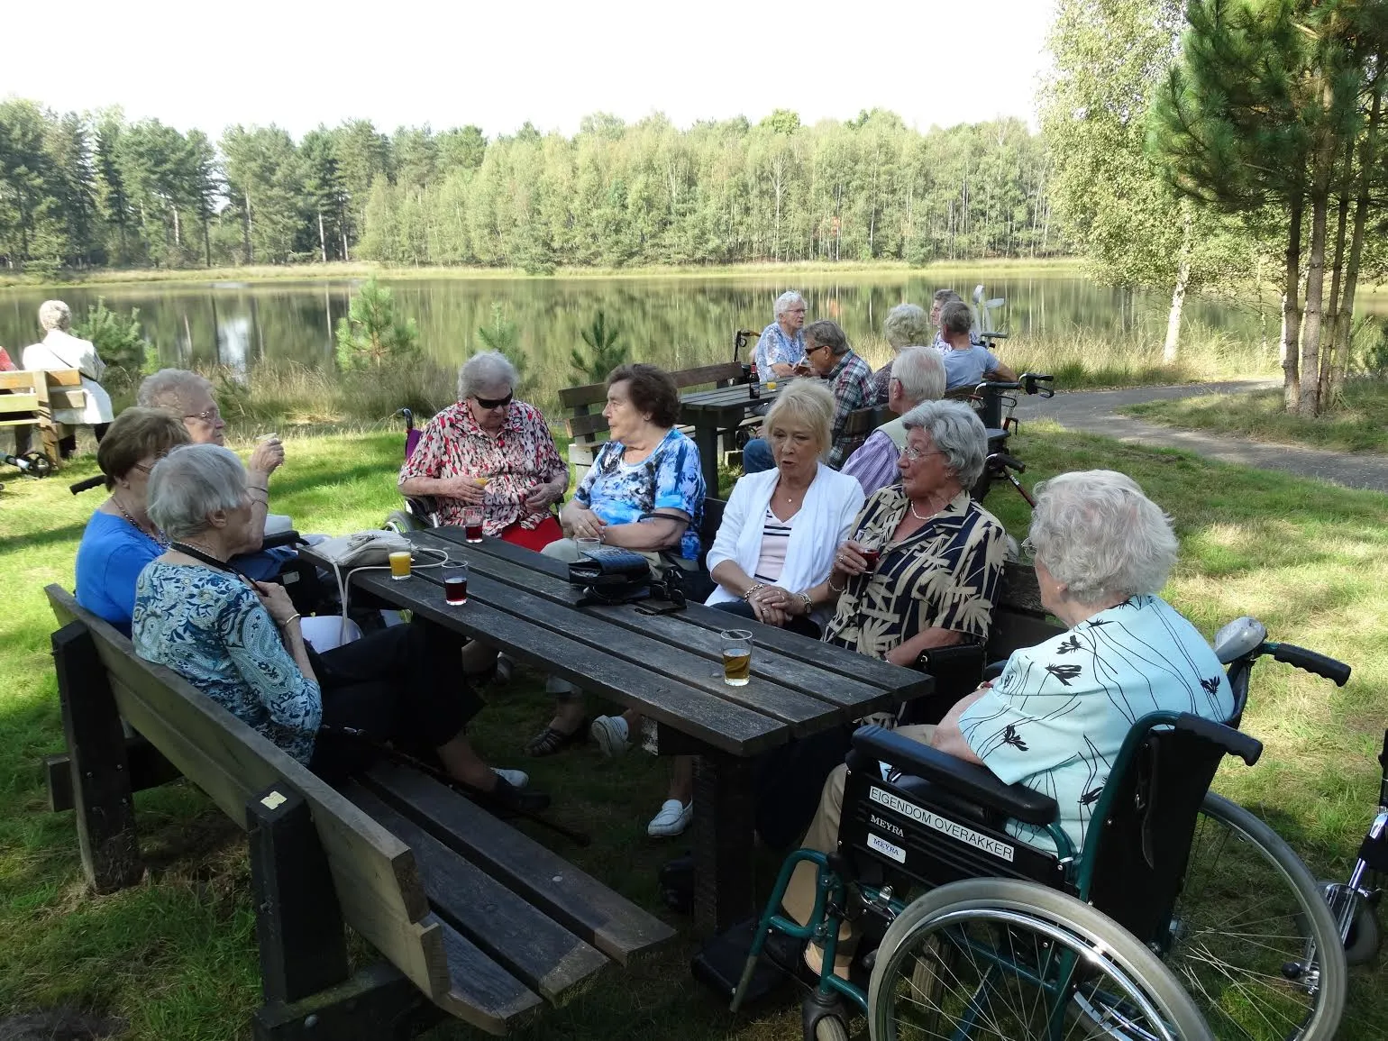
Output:
M679 430L670 430L641 462L622 462L623 451L626 448L620 441L605 441L573 498L609 525L630 525L677 509L690 519L680 539L679 555L697 561L698 529L704 518L704 471L694 441Z

